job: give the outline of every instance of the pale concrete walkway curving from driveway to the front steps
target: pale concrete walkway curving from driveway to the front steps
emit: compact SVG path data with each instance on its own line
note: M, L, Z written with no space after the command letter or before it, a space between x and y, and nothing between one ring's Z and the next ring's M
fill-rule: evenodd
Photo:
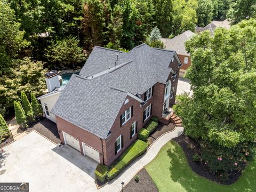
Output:
M152 161L158 154L159 150L171 139L178 137L183 133L183 127L175 127L175 130L162 135L158 138L148 149L147 153L141 156L136 162L132 163L113 181L106 186L100 188L98 191L120 191L122 189L121 182L126 185L139 170Z

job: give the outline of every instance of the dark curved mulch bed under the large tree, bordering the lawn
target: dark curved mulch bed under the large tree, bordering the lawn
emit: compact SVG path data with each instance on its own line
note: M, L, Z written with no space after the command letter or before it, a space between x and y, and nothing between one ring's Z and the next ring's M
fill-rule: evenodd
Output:
M200 150L201 150L199 144L195 140L187 137L184 134L182 134L179 137L174 138L172 140L177 142L182 147L191 169L194 172L196 172L198 175L201 175L202 177L204 177L206 179L209 179L209 180L212 180L212 181L224 184L224 185L230 185L230 184L236 182L239 179L240 175L242 174L241 171L233 171L233 173L231 173L231 175L229 176L229 180L222 181L218 178L217 175L214 175L210 172L209 168L204 164L204 162L193 162L192 161L193 155L195 153L200 154ZM188 147L188 146L190 146L190 147Z

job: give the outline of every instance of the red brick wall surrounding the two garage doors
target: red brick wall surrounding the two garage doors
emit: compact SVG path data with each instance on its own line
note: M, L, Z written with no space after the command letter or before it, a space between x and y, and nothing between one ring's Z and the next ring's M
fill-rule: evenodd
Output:
M58 130L60 131L59 134L60 134L60 140L62 143L65 143L63 138L63 133L62 133L62 131L64 131L65 133L68 133L69 135L72 135L74 138L79 140L80 150L82 154L83 154L82 142L93 147L94 149L98 150L100 154L102 154L102 145L99 137L72 123L69 123L68 121L62 119L61 117L56 116L56 122L57 122ZM103 163L102 155L100 155L100 163Z

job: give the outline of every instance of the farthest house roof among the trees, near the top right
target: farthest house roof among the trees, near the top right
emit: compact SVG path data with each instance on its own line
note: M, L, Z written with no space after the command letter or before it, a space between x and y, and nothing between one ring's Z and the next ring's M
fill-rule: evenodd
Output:
M211 35L213 36L214 30L217 27L224 27L226 29L230 29L230 22L226 19L224 21L212 21L205 27L197 27L195 28L196 33L201 33L204 30L210 30Z

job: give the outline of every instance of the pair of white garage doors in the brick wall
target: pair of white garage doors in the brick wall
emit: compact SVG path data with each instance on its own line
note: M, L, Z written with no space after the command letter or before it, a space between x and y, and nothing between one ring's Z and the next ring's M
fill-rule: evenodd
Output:
M73 147L74 149L78 150L81 152L79 140L74 138L73 136L62 132L63 133L63 138L65 141L65 144ZM83 154L94 159L97 162L100 162L100 154L99 151L94 149L93 147L86 145L86 143L82 142L82 147L83 147Z

